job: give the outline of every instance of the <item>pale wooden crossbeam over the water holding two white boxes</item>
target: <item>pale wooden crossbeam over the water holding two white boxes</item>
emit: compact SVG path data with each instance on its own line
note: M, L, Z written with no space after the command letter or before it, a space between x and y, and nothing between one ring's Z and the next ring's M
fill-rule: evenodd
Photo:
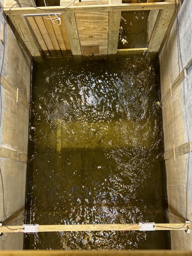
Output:
M8 226L9 227L9 226ZM186 230L191 227L190 224L184 223L156 223L156 230ZM23 232L23 226L0 226L0 233L20 233ZM95 224L95 225L39 225L38 232L61 232L61 231L132 231L139 230L139 224Z

